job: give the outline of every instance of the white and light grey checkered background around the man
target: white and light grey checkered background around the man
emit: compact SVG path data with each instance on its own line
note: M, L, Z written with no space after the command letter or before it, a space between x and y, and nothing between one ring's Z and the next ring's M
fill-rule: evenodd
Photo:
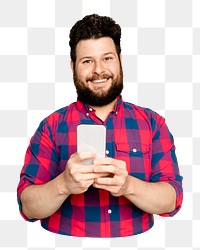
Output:
M166 117L184 202L144 234L119 239L54 235L18 212L16 186L39 122L76 100L70 27L86 14L122 27L126 101ZM0 249L200 249L200 0L0 0Z

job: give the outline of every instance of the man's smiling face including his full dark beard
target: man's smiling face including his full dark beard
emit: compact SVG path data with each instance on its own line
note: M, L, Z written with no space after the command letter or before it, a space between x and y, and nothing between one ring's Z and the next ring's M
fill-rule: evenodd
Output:
M109 37L81 40L73 66L79 100L103 106L116 99L123 89L123 72L115 44Z

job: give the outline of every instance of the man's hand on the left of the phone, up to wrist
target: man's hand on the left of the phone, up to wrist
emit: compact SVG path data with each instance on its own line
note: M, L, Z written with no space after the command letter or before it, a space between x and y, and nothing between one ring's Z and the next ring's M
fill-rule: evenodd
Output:
M94 165L83 164L84 160L92 158L95 158L95 154L90 152L71 155L63 172L66 193L69 195L84 193L94 183L95 179L108 175L104 172L94 173Z

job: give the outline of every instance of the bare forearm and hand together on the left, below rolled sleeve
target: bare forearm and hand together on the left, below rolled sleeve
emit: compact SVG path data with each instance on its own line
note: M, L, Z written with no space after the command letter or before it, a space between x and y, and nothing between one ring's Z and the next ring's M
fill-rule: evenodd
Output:
M29 219L43 219L55 213L71 194L81 194L96 178L109 173L94 173L94 165L83 165L86 159L95 158L93 153L73 154L65 170L53 180L42 185L30 185L21 193L22 211Z

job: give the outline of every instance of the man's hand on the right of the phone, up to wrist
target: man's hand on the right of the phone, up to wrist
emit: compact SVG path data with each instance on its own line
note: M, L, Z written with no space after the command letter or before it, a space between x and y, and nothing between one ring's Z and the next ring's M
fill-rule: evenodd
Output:
M94 160L94 172L109 174L106 178L96 178L93 184L95 188L107 190L113 196L121 196L126 193L128 171L124 161L113 158L96 159Z

